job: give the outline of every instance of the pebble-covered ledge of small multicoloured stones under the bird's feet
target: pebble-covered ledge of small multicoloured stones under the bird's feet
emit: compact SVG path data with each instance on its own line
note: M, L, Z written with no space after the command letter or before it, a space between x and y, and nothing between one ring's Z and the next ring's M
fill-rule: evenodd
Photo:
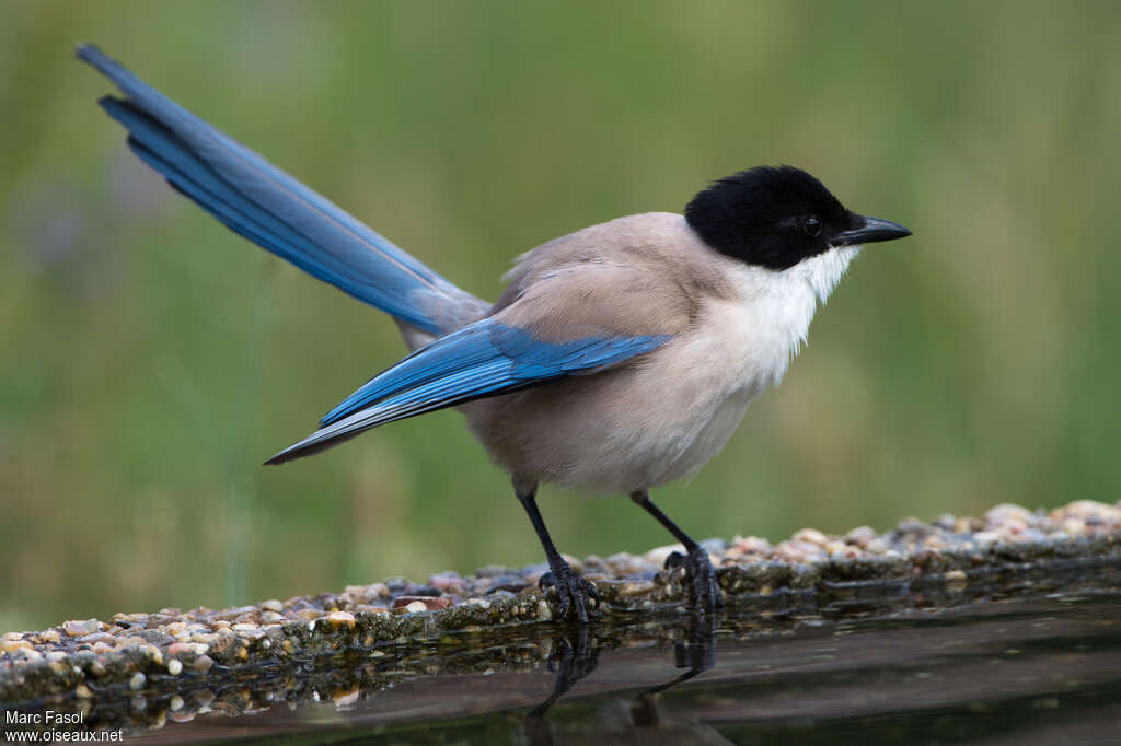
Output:
M703 543L733 607L798 597L810 599L817 613L832 609L836 618L868 614L874 594L861 600L850 593L854 588L925 589L923 603L952 606L958 596L969 599L970 586L994 575L1119 558L1121 503L1077 501L1050 512L1003 504L983 519L905 519L887 533L868 526L844 535L803 529L776 544L758 537ZM663 570L678 549L566 559L596 584L604 602L601 619L637 619L641 612L684 609L680 571ZM541 624L553 619L549 599L536 585L547 569L488 566L472 576L439 572L423 584L392 578L341 594L221 610L164 608L9 632L0 635L0 703L89 703L108 692L174 687L239 668Z

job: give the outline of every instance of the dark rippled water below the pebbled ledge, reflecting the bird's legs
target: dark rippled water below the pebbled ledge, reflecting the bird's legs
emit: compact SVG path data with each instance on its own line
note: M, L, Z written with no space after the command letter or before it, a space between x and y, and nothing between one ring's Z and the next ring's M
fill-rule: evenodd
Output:
M794 607L732 609L715 630L515 630L276 671L138 740L1121 744L1119 621L1121 595L1099 590L845 622ZM262 688L271 705L251 702ZM192 697L173 717L192 718ZM256 711L214 711L239 707Z

